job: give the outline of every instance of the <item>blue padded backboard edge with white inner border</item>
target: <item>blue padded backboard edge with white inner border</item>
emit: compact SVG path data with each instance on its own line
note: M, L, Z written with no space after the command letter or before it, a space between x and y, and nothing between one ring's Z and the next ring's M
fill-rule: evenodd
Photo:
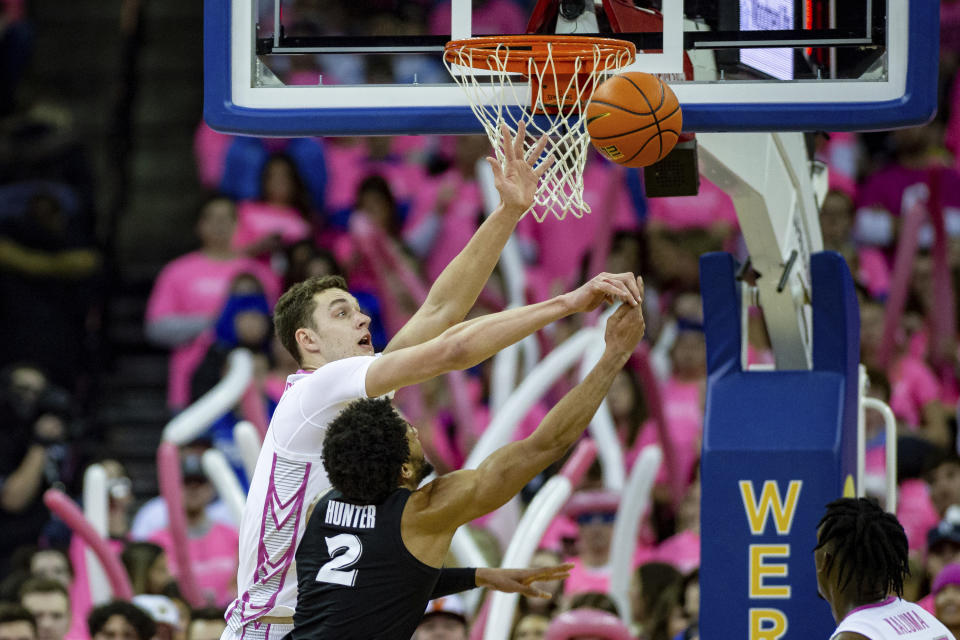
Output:
M682 31L679 11L665 3L664 53L644 55L649 64L662 56L671 62L682 51L681 38L670 33ZM412 133L468 134L482 131L465 96L455 84L415 85L415 104L400 104L395 90L399 85L328 87L252 87L256 40L254 16L240 0L205 0L204 5L204 119L218 131L259 136L312 135L400 135ZM901 15L898 12L903 12ZM250 38L231 37L234 25ZM671 27L673 30L671 30ZM888 56L886 80L797 81L760 85L773 87L780 95L797 91L806 94L831 89L829 95L845 93L858 99L838 102L796 103L777 99L740 102L743 85L737 81L678 83L672 85L684 110L687 131L862 131L913 126L927 122L936 111L937 61L939 56L939 5L913 0L904 9L902 0L888 5L888 51L907 50L906 63ZM924 34L924 37L911 37ZM933 35L931 35L933 34ZM638 62L638 70L657 70ZM842 85L853 85L851 87ZM249 88L249 89L248 89ZM408 87L403 87L408 88ZM317 92L323 91L330 107L316 107ZM763 91L756 91L757 95ZM767 93L770 93L769 91ZM862 99L860 95L862 94ZM403 95L413 96L404 92ZM824 93L823 95L828 95ZM363 104L366 106L355 106ZM379 106L393 104L396 106ZM420 105L437 106L420 106ZM354 106L351 106L354 105ZM377 105L377 106L373 106ZM516 115L524 107L517 106Z

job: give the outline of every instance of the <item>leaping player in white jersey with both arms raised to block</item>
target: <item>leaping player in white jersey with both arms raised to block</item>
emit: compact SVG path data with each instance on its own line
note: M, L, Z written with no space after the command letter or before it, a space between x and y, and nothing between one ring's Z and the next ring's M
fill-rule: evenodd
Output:
M546 141L528 161L523 138L522 129L516 140L505 135L503 167L490 159L500 206L440 274L382 357L374 356L370 344L370 319L341 278L300 283L277 303L277 335L301 370L287 379L251 478L240 524L238 596L227 609L225 640L272 640L292 629L294 553L307 506L329 486L321 459L323 435L342 408L358 398L472 367L559 318L595 307L598 297L639 304L631 274L600 274L551 300L462 322L552 161L534 168ZM478 586L531 589L524 584L530 576L509 571L478 571Z

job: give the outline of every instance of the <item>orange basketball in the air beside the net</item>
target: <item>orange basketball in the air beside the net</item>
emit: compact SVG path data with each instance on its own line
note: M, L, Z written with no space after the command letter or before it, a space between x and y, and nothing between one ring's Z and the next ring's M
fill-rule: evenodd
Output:
M646 167L677 144L683 114L670 87L649 73L631 71L597 88L586 122L600 153L625 167Z

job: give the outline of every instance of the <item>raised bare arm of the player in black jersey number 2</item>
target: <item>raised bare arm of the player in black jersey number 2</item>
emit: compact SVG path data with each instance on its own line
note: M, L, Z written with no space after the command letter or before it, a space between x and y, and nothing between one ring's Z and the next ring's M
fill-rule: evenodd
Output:
M617 309L607 320L603 356L583 382L550 410L527 439L501 447L476 469L446 474L416 491L410 497L416 505L410 526L424 536L452 532L505 504L563 456L587 428L643 331L639 306L624 304Z

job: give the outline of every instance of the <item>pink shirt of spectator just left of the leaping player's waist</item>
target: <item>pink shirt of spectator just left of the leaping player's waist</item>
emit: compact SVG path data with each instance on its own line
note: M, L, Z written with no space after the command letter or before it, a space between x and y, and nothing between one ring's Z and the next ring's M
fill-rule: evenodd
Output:
M170 573L179 576L170 530L158 531L150 537L150 542L163 547ZM187 544L193 575L204 598L217 607L226 607L236 594L237 549L240 544L237 530L222 522L211 522L203 536L190 538Z

